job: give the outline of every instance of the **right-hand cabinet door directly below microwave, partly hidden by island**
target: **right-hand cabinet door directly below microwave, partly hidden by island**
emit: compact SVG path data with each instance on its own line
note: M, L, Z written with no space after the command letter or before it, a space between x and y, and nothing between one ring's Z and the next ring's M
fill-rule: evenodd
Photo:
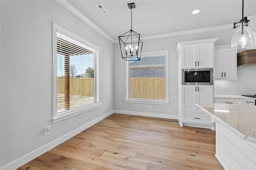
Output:
M199 85L197 86L197 103L213 103L213 86ZM197 112L205 113L197 108Z

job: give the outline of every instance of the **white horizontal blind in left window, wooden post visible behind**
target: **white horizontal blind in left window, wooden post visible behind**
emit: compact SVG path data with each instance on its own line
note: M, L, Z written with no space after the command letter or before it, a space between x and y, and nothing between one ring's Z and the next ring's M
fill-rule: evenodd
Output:
M98 103L98 51L57 32L57 114Z

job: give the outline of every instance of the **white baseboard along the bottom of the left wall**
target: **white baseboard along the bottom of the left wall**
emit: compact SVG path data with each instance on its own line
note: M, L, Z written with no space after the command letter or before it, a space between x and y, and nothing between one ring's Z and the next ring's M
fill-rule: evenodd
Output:
M16 168L19 168L20 166L26 164L27 162L33 160L34 158L36 158L38 156L44 154L48 150L54 148L55 146L58 146L62 142L65 142L66 140L72 138L76 134L91 127L92 125L98 123L99 121L101 121L102 119L105 119L106 117L112 115L113 113L114 113L114 110L86 123L85 125L82 125L81 127L78 127L76 129L72 130L71 132L53 140L52 142L49 142L49 143L45 144L44 146L41 146L40 148L37 148L36 150L33 150L32 152L10 162L9 164L6 164L6 165L0 167L0 170L14 170Z

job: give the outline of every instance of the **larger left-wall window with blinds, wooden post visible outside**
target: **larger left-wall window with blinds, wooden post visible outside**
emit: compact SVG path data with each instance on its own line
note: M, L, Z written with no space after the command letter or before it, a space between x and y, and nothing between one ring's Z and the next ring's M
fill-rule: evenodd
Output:
M99 107L99 48L54 24L53 122Z

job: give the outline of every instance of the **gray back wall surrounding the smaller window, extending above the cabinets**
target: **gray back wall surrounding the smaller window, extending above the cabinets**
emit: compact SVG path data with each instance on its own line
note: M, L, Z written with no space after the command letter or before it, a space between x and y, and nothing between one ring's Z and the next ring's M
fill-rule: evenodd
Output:
M189 28L188 28L189 30ZM143 38L143 32L140 32ZM125 61L121 58L119 44L114 45L114 108L116 110L178 115L178 42L219 38L215 45L229 45L234 29L204 32L168 38L143 41L143 52L169 50L169 105L152 105L142 103L126 103L125 99Z

